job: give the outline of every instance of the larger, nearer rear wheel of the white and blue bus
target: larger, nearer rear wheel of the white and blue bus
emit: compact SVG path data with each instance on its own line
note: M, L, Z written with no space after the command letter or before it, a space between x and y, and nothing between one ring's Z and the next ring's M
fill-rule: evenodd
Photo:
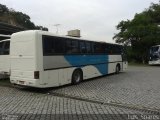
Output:
M72 74L72 84L79 84L83 80L83 73L81 69L76 69Z

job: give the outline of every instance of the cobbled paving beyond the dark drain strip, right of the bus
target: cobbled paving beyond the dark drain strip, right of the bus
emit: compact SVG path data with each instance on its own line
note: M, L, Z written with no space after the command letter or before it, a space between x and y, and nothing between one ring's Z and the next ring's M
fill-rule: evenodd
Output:
M160 109L160 66L131 66L128 71L117 75L96 78L51 92Z

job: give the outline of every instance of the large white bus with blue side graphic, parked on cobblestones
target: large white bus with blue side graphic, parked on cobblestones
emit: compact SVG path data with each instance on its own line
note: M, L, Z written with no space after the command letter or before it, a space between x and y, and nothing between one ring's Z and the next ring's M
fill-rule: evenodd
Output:
M47 88L78 84L127 68L120 45L45 31L12 34L10 49L10 81L22 86Z

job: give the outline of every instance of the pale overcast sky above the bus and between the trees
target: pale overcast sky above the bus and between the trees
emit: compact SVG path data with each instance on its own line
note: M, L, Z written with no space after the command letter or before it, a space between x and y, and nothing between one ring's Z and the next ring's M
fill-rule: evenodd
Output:
M59 35L67 31L81 30L84 39L105 42L112 39L116 25L122 20L131 20L136 13L159 0L1 0L0 4L30 16L35 25L49 28Z

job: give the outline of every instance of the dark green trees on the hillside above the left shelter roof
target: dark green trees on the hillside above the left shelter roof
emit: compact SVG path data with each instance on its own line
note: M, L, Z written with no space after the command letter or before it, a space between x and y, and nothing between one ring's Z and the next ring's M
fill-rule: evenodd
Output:
M8 9L5 5L2 4L0 4L0 21L16 25L24 29L48 31L48 28L43 26L36 26L33 22L31 22L30 17L27 14L17 12L13 9Z

